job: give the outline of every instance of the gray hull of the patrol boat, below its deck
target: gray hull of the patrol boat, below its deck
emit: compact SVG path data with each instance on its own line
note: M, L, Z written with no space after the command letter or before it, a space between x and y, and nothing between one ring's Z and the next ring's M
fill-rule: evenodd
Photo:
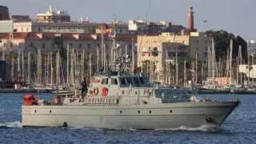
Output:
M221 126L239 102L178 102L133 106L22 106L22 126L165 129ZM65 124L64 124L65 126Z

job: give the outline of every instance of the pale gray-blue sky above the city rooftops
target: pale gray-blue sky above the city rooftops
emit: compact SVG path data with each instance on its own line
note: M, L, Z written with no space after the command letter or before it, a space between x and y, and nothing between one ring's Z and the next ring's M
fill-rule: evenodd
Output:
M193 6L198 31L226 30L245 40L256 39L256 0L1 0L0 5L8 6L10 14L32 19L52 5L67 10L74 21L82 17L90 22L167 20L182 26L187 26L187 11Z

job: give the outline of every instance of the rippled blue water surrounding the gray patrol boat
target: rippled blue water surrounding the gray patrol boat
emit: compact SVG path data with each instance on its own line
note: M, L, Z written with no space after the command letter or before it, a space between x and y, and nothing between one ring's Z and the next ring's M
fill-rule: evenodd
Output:
M22 95L0 94L0 143L256 143L256 95L238 95L240 106L218 130L206 126L173 130L22 128ZM51 98L51 94L40 96Z

